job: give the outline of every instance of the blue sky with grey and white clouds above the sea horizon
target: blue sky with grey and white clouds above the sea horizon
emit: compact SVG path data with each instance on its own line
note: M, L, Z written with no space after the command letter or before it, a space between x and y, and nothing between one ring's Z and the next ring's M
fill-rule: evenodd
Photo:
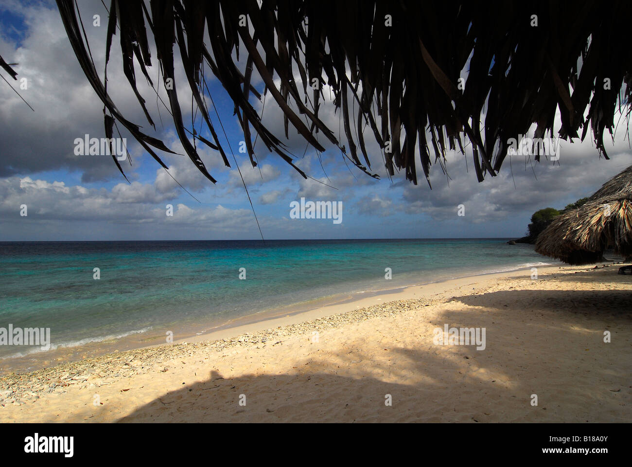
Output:
M107 13L99 0L78 3L97 70L103 70ZM92 25L94 15L100 15L100 27ZM28 83L20 93L35 109L28 109L0 80L0 240L260 238L229 151L232 169L224 167L216 151L200 151L216 185L198 173L186 156L160 154L171 175L200 202L181 190L130 135L123 134L133 165L124 163L123 167L131 185L109 156L75 156L75 138L104 137L102 104L76 62L54 3L3 1L0 55L18 63L18 79L27 78ZM155 66L150 74L157 76ZM9 79L6 73L3 76ZM178 77L184 82L182 70L176 70L176 82ZM123 115L184 154L166 109L155 103L155 94L142 82L137 67L140 92L157 123L155 132L149 127L121 70L118 37L108 79ZM20 81L10 81L20 87ZM263 90L261 82L254 84ZM368 150L380 180L348 167L340 151L332 147L320 155L322 166L313 149L303 156L305 142L291 128L285 140L283 119L269 96L264 123L296 154L296 165L319 183L301 178L259 142L255 153L260 165L253 169L245 154L237 152L243 135L232 102L217 80L211 79L209 87L266 239L520 237L533 211L561 208L592 194L629 165L632 153L620 125L614 142L607 146L609 161L599 158L590 137L582 143L562 141L559 163L543 160L532 165L525 163L524 156L514 156L498 177L479 184L468 147L465 156L448 154L451 180L438 165L432 167L430 190L423 180L416 186L406 182L403 173L389 180L375 144ZM182 89L179 97L187 118L191 97ZM251 101L255 108L262 108L257 99ZM331 103L321 115L330 128L338 127L339 115ZM199 115L196 128L200 128ZM216 129L228 150L221 127L216 125ZM207 131L202 134L209 137ZM289 203L301 197L343 202L343 222L289 218ZM28 216L20 216L22 204L28 206ZM166 216L167 204L173 205L173 216ZM465 216L457 215L459 204L465 206Z

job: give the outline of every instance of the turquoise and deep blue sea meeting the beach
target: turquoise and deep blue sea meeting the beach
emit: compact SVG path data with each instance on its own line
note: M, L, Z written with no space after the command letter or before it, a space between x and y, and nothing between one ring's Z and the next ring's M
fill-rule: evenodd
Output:
M0 242L0 327L50 327L52 349L177 338L319 297L551 263L506 240ZM0 358L36 351L0 346Z

